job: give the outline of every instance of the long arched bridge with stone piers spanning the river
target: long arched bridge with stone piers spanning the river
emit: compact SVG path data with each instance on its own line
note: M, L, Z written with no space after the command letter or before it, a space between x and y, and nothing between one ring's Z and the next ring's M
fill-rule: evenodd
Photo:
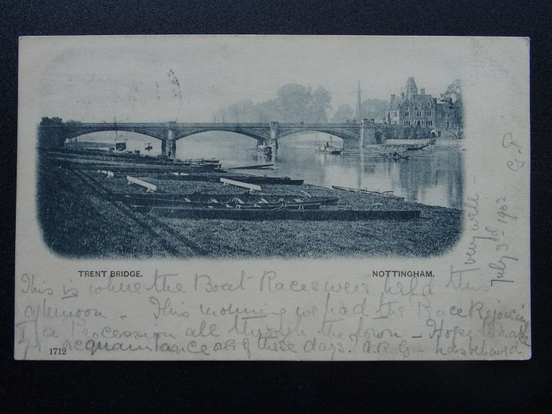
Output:
M236 132L257 140L257 144L276 144L279 139L300 132L325 132L344 141L362 146L380 144L386 138L401 137L402 126L375 124L373 120L339 124L306 123L139 123L139 122L63 122L60 118L42 118L39 124L39 146L61 147L67 139L101 131L129 131L148 135L161 141L161 151L167 157L174 157L176 141L207 131Z

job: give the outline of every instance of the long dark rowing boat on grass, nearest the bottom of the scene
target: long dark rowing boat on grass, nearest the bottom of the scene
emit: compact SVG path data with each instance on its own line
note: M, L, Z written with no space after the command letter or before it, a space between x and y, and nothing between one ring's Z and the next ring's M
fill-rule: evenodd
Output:
M420 210L308 210L299 207L243 208L243 207L149 207L133 206L135 211L178 219L230 219L230 220L408 220L420 217Z

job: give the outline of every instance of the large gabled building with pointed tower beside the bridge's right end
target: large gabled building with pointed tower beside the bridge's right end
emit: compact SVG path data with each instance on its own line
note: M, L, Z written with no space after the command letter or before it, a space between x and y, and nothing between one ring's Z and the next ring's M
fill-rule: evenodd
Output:
M414 78L409 77L400 95L391 95L385 123L424 128L435 137L454 138L457 130L454 115L454 108L438 102L424 88L418 93Z

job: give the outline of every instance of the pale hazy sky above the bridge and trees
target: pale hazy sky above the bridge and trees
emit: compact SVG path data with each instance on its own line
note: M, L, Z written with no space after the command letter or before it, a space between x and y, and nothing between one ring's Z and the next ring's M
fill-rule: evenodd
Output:
M44 37L32 54L41 116L81 121L213 121L286 83L322 86L333 110L389 99L407 77L438 96L460 77L450 39L415 37ZM465 49L465 48L463 48Z

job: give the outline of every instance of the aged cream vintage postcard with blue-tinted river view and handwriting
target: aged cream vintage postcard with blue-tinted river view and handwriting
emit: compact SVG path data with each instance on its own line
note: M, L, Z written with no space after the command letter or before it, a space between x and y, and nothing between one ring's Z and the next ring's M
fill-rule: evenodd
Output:
M16 359L531 357L529 39L19 40Z

